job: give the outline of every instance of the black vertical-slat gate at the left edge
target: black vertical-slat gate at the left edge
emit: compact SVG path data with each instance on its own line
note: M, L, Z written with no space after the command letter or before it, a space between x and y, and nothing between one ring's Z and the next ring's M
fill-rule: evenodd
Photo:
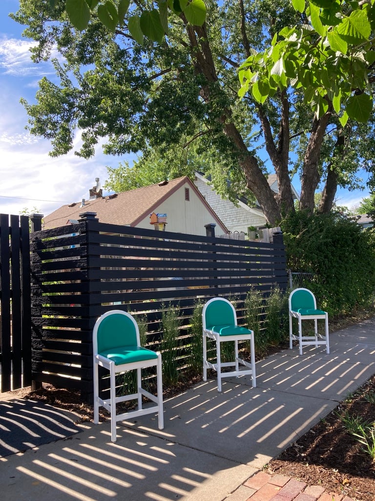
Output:
M0 214L0 391L31 383L27 216Z

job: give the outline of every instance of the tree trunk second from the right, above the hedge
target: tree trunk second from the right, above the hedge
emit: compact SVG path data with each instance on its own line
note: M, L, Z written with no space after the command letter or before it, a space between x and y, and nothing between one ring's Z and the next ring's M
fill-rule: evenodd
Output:
M301 209L308 209L311 212L314 210L314 194L320 180L318 161L329 117L330 111L327 111L319 119L314 118L303 159L299 207Z

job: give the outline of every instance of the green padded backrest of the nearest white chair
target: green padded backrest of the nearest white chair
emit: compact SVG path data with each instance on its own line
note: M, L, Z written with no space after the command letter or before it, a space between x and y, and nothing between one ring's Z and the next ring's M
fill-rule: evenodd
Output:
M135 326L131 318L113 313L103 318L97 329L97 352L120 346L137 346Z

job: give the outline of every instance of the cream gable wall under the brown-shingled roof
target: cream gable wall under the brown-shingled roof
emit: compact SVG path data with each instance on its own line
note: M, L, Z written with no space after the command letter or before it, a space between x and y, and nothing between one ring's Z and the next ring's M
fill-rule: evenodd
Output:
M189 188L189 200L185 200L185 188ZM205 235L205 224L214 223L215 234L226 233L224 226L214 217L199 194L188 183L184 183L166 200L160 203L154 212L167 215L166 231ZM137 227L152 228L149 214L137 224Z

